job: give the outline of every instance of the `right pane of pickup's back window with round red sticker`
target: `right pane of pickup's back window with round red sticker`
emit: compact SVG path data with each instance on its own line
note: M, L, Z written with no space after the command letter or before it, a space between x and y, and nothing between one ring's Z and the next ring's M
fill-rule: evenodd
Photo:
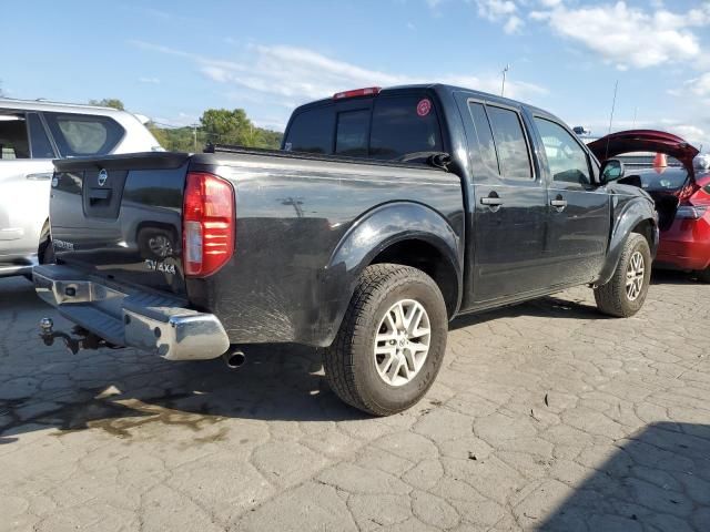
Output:
M375 99L371 157L393 160L407 153L442 151L439 121L432 100L423 96Z

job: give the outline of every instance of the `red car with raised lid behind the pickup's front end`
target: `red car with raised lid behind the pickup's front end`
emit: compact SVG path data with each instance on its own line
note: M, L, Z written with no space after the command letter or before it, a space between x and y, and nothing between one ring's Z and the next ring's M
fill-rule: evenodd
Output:
M656 201L660 245L655 266L696 272L710 283L710 171L693 168L698 150L671 133L633 130L591 142L599 161L630 152L656 152L680 161L680 167L631 170L621 183L641 186Z

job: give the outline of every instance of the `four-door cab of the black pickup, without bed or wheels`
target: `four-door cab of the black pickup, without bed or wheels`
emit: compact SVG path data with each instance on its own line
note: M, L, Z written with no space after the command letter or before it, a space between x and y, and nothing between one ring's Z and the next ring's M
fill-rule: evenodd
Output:
M308 103L294 111L282 147L419 164L447 154L466 211L459 311L608 280L609 192L619 193L617 211L638 197L602 182L598 160L555 115L440 84L367 88ZM642 231L655 249L651 225Z

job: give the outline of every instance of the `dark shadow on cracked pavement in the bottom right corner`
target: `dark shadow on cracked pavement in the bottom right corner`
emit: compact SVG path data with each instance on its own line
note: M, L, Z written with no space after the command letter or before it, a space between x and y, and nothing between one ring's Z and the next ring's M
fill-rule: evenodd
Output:
M710 530L710 426L653 423L616 444L537 530Z

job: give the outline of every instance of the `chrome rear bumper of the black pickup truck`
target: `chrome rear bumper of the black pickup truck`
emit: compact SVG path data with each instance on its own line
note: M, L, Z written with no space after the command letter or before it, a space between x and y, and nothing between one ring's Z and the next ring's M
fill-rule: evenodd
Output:
M230 347L220 320L180 301L109 284L64 265L36 266L34 289L59 313L106 341L168 360L216 358Z

